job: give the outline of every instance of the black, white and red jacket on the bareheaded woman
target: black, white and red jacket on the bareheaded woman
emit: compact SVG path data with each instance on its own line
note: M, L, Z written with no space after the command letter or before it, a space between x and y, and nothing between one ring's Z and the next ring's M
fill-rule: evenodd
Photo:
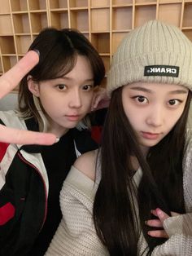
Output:
M0 122L37 130L14 111L0 112ZM80 130L76 131L74 145L77 155L98 147ZM0 143L0 255L27 255L45 222L49 182L38 147Z

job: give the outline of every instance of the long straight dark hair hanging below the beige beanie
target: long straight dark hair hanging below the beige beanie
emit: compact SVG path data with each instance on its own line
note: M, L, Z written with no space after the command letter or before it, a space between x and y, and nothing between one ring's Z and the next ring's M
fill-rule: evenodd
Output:
M102 179L94 200L94 225L110 255L136 256L141 232L151 254L165 241L147 235L145 221L152 218L151 210L159 207L168 214L171 210L185 213L182 159L191 92L177 124L150 149L146 159L124 113L121 94L122 87L113 91L103 127ZM142 169L138 188L133 182L131 156L137 157Z

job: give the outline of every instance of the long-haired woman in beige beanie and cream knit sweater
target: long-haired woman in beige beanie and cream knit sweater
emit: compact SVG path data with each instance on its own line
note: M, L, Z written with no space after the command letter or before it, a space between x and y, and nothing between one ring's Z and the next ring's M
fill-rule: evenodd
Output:
M151 20L120 43L102 148L63 183L46 255L192 255L192 42Z

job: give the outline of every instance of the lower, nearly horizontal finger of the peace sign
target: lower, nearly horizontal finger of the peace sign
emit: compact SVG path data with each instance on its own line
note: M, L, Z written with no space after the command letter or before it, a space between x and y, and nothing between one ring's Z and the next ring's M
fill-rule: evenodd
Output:
M56 142L56 136L29 130L16 130L0 125L0 141L17 144L51 145Z

